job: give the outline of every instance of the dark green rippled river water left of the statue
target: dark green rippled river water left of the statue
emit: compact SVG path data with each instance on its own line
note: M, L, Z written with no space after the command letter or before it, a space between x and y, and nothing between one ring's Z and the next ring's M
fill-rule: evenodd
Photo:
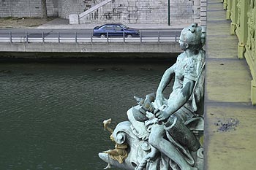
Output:
M0 63L0 169L103 169L102 120L127 120L172 63Z

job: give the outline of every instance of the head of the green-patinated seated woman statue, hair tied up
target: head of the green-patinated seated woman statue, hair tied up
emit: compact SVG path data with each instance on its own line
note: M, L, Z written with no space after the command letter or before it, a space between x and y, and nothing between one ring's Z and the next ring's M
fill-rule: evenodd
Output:
M180 46L181 50L187 50L187 48L194 47L197 50L203 47L206 42L205 28L197 26L197 23L192 23L191 26L184 28L181 31Z

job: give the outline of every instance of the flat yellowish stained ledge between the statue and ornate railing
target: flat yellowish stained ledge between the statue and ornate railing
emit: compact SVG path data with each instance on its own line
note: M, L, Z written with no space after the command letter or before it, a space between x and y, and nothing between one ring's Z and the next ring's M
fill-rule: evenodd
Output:
M256 107L250 101L249 67L237 57L221 0L208 0L206 59L205 168L256 167Z

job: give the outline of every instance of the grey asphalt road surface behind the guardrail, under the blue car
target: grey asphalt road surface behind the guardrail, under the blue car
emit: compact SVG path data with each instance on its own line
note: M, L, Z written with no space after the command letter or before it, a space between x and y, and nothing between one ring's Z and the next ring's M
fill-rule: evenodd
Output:
M157 41L165 39L166 41L176 41L181 33L180 28L172 29L140 29L140 39L155 38ZM10 37L12 39L21 39L18 42L27 42L30 38L39 39L73 39L77 43L79 39L92 40L92 30L86 29L39 29L39 28L29 28L29 29L17 29L17 28L2 28L0 29L0 42L10 42ZM26 38L26 41L24 40ZM119 38L124 38L123 36ZM170 38L170 39L167 39ZM167 39L167 40L166 40ZM42 42L41 40L40 42ZM62 41L64 42L64 41ZM70 41L69 41L70 42ZM97 41L94 41L97 42Z

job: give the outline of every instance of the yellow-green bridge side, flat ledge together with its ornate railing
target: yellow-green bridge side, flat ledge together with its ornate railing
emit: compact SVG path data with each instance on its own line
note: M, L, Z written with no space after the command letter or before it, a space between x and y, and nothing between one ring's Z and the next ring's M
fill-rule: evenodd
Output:
M256 1L251 0L207 1L204 111L204 169L207 170L255 169L252 30L256 27L250 23L255 18L252 15L255 5Z

